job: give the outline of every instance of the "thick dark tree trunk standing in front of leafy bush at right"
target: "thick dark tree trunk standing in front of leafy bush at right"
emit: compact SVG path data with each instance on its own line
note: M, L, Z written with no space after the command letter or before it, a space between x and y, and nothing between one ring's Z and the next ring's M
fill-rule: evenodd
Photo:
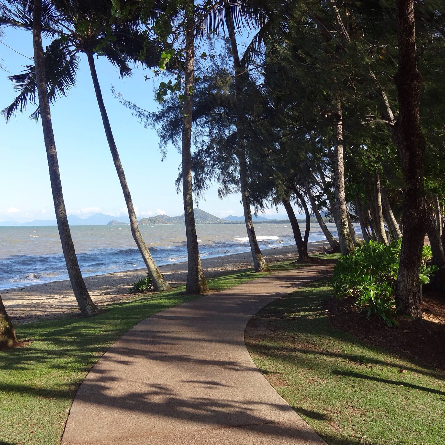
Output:
M394 131L404 180L403 238L396 305L400 313L420 318L419 271L429 209L423 186L425 138L419 122L422 77L416 61L414 0L396 0L396 17L399 60L394 82L398 93L399 117Z

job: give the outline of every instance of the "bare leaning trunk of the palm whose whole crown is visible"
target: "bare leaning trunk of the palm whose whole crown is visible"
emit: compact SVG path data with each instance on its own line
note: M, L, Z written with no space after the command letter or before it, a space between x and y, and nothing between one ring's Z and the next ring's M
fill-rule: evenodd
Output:
M101 111L102 122L105 129L105 135L107 137L109 149L111 151L111 156L113 157L114 166L116 167L117 176L119 177L119 182L121 183L122 192L125 198L125 204L127 205L128 216L130 218L130 228L131 234L133 235L134 241L138 246L139 252L141 252L144 263L148 269L148 272L153 283L153 288L155 291L168 291L171 289L166 280L162 277L161 272L154 263L150 251L142 238L141 231L139 230L138 218L136 212L134 211L133 200L131 199L130 189L125 178L124 169L122 168L121 159L119 158L119 153L117 151L116 143L114 142L113 132L111 130L111 125L109 123L107 110L105 109L105 104L102 99L101 86L99 85L99 80L97 78L96 67L94 65L93 53L87 53L89 68L91 70L91 77L93 78L94 91L96 92L97 104Z

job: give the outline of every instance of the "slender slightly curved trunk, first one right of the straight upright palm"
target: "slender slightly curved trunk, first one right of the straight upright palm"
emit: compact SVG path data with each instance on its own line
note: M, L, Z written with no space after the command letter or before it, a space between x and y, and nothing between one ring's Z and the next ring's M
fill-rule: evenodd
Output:
M255 272L270 271L267 263L261 253L258 241L255 235L255 227L253 225L252 213L250 208L249 187L247 181L247 159L246 150L244 148L243 125L245 117L243 114L243 78L246 76L243 73L241 64L239 62L238 45L236 43L235 25L228 2L225 3L226 25L230 37L231 51L233 57L233 67L235 71L235 101L236 101L236 136L238 143L237 158L239 161L239 184L241 188L241 200L243 202L244 220L246 223L247 237L251 246L252 259L255 267Z

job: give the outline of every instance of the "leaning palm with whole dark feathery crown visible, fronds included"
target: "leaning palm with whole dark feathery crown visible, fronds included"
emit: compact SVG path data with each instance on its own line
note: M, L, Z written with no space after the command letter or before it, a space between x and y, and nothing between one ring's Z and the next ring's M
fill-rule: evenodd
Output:
M105 135L128 210L131 234L149 271L154 290L167 291L171 289L171 287L154 263L139 230L138 218L134 210L129 186L125 178L108 114L105 109L93 57L95 52L100 51L100 54L105 55L109 61L120 69L121 76L129 75L131 73L131 69L127 63L129 57L123 55L121 49L128 49L131 55L138 52L139 49L142 49L142 36L128 21L112 28L110 32L110 29L105 24L107 23L106 19L111 9L111 2L109 4L92 5L90 2L53 1L53 4L57 8L57 12L53 11L53 15L55 16L53 17L53 21L57 23L57 26L49 28L47 25L45 31L51 32L53 35L57 34L57 32L59 34L63 32L63 34L61 37L53 40L45 54L45 60L48 62L45 64L45 67L48 78L50 79L49 84L52 85L52 89L54 90L52 98L55 97L55 93L57 92L65 94L66 89L74 85L74 74L78 68L77 55L79 53L86 53ZM26 27L27 23L26 10L22 11L19 20L13 22L16 26L22 27ZM59 23L62 23L63 27L61 27ZM151 51L150 55L152 58L147 57L146 62L148 63L150 60L153 63L153 61L156 60L156 57L153 57L156 49L152 46L149 51ZM67 72L71 73L69 79L66 77ZM24 108L23 104L26 102L27 97L32 97L30 91L32 91L33 81L35 81L34 67L28 66L26 73L12 76L11 79L17 88L20 89L20 94L12 104L4 110L4 115L7 119L12 116L17 108Z

